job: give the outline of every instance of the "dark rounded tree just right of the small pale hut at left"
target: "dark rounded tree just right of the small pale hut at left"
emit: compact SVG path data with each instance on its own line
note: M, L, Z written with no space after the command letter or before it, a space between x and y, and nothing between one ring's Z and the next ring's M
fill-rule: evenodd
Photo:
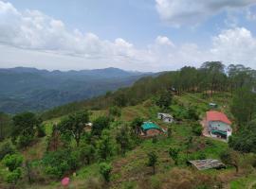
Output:
M96 120L93 121L93 126L91 133L92 135L101 136L101 131L103 129L109 128L111 119L107 116L100 116Z

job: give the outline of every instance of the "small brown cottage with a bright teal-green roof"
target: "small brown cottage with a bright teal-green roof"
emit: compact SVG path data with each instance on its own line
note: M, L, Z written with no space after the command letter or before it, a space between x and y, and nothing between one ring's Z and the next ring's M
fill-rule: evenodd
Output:
M141 126L141 130L142 136L155 136L163 132L163 129L152 122L144 122Z

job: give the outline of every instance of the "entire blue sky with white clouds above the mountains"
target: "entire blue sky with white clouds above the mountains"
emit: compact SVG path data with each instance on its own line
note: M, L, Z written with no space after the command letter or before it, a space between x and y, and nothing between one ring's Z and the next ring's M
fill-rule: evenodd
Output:
M0 0L0 67L256 69L256 0Z

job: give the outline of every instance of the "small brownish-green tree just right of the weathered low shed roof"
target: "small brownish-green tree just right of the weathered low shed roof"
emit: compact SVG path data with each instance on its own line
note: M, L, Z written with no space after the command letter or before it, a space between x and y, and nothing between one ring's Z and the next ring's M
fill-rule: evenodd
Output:
M229 164L235 167L236 172L239 171L239 155L233 150L225 150L221 153L220 159L223 163Z

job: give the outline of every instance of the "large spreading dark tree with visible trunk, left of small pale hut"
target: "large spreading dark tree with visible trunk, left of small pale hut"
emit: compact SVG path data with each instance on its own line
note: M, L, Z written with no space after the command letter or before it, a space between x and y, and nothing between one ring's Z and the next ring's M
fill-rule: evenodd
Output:
M82 133L88 122L89 113L87 111L76 112L64 117L58 125L58 129L62 134L73 137L79 146Z

